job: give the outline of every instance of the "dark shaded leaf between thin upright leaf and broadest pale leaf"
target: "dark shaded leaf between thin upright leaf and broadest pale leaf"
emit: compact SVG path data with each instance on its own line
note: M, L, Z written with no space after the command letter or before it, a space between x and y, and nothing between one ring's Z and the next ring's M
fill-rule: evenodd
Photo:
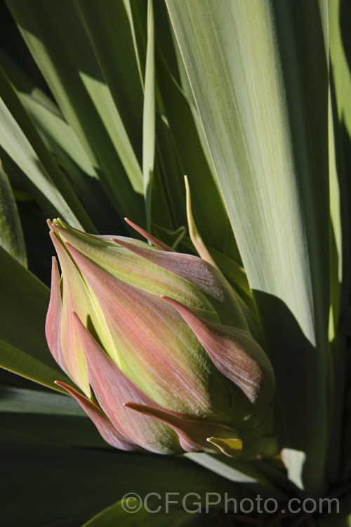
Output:
M240 261L227 212L199 141L190 106L160 58L157 60L157 81L169 127L168 133L171 135L171 145L166 147L171 146L174 150L171 157L164 145L164 131L158 131L157 143L164 163L168 202L171 209L176 209L173 212L175 226L178 228L183 222L186 224L183 177L187 175L192 191L192 210L205 244L227 253L227 256L232 256L234 252L234 258Z

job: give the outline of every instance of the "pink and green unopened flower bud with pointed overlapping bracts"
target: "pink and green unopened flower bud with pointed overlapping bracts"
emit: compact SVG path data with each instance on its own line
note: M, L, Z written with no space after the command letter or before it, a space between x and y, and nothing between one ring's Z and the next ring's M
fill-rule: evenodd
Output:
M147 233L153 246L48 225L46 338L81 391L58 384L117 448L237 455L274 373L222 273Z

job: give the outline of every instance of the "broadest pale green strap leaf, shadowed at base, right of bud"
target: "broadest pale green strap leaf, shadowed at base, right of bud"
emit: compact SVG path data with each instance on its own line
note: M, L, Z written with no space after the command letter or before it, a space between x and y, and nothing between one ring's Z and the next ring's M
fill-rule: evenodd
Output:
M326 2L166 4L256 292L286 446L307 454L293 479L318 491L329 313Z

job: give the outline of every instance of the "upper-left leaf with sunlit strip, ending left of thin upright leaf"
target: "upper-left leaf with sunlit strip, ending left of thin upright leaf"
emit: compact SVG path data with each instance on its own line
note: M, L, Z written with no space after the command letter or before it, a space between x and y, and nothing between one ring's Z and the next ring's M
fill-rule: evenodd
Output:
M8 6L112 204L121 217L143 223L140 165L76 6L70 0L60 6L8 0Z

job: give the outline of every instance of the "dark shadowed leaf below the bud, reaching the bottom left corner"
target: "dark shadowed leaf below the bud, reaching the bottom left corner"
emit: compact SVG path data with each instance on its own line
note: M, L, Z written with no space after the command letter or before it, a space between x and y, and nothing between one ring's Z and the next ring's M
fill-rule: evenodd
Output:
M222 507L226 492L238 499L244 497L240 486L228 484L220 476L182 458L118 450L16 445L15 436L4 434L0 442L4 525L27 527L51 522L65 525L70 520L81 526L127 492L138 493L142 498L153 492L162 496L166 492L178 493L178 500L194 492L202 503L206 493L220 493Z

